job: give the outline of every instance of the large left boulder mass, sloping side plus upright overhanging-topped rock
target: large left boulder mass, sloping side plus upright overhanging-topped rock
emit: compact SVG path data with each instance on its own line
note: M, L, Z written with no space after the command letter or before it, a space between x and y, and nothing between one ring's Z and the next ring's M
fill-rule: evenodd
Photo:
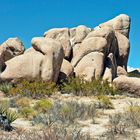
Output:
M53 39L33 38L34 49L7 61L1 73L2 80L28 79L57 82L64 52L61 44Z

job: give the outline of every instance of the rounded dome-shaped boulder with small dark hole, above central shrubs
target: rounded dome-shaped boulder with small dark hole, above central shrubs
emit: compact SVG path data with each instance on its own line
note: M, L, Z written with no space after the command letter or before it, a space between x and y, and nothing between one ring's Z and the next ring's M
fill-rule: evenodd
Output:
M85 55L74 68L76 76L83 77L87 81L101 78L104 69L104 54L91 52Z

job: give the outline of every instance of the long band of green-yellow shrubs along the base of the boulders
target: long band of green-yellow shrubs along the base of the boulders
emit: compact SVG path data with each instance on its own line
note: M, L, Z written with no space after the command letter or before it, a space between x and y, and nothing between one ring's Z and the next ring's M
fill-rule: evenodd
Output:
M115 87L110 86L107 81L93 80L89 82L79 77L71 77L59 85L53 82L29 82L27 80L13 85L10 83L2 83L0 90L8 96L21 95L36 99L51 96L58 91L76 96L116 95L119 93Z

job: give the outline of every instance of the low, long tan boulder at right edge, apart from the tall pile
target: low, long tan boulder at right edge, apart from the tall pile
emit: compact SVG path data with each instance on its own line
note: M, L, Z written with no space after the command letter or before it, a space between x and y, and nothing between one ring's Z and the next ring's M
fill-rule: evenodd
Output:
M140 96L140 78L121 75L115 78L113 83L123 93Z

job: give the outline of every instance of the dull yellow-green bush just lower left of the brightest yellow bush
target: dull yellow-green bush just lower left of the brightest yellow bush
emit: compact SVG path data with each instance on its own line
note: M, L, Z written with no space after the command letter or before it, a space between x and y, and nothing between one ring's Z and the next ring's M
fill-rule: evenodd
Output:
M29 120L34 118L37 115L37 112L31 107L23 107L18 110L18 112L24 117Z

